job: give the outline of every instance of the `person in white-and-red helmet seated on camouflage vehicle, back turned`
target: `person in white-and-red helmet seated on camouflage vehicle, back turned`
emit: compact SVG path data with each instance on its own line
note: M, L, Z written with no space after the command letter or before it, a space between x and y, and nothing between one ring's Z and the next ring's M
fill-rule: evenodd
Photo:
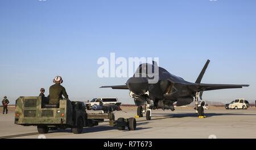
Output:
M62 95L68 99L68 94L65 90L65 87L61 86L60 84L63 83L63 80L60 76L56 76L53 79L53 82L55 83L51 87L49 87L49 104L57 105L60 102L60 99L63 99Z

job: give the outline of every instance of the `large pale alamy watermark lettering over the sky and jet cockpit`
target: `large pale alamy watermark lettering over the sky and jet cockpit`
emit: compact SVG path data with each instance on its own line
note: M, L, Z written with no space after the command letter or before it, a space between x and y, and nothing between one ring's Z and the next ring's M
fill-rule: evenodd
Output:
M100 65L97 70L97 75L100 78L126 78L134 75L134 77L148 78L149 84L155 84L159 80L158 57L129 57L126 59L125 57L115 57L115 53L110 53L110 58L100 57L97 64Z

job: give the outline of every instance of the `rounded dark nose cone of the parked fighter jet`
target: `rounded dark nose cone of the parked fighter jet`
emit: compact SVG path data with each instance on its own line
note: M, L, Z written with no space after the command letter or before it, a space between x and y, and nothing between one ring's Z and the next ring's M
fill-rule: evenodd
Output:
M131 77L126 82L127 87L130 91L137 95L143 95L147 92L147 78L142 77Z

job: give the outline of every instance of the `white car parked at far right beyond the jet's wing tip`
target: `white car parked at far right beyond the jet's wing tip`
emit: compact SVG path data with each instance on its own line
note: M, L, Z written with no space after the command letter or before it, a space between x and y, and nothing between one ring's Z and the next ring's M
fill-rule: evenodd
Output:
M225 106L226 109L247 109L248 107L250 104L245 99L236 99Z

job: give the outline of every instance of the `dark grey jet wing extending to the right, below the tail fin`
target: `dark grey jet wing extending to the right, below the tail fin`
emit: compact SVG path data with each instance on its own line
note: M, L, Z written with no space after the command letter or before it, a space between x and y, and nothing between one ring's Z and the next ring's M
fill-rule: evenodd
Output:
M220 89L236 89L248 87L250 85L228 85L228 84L196 84L200 91L220 90Z

